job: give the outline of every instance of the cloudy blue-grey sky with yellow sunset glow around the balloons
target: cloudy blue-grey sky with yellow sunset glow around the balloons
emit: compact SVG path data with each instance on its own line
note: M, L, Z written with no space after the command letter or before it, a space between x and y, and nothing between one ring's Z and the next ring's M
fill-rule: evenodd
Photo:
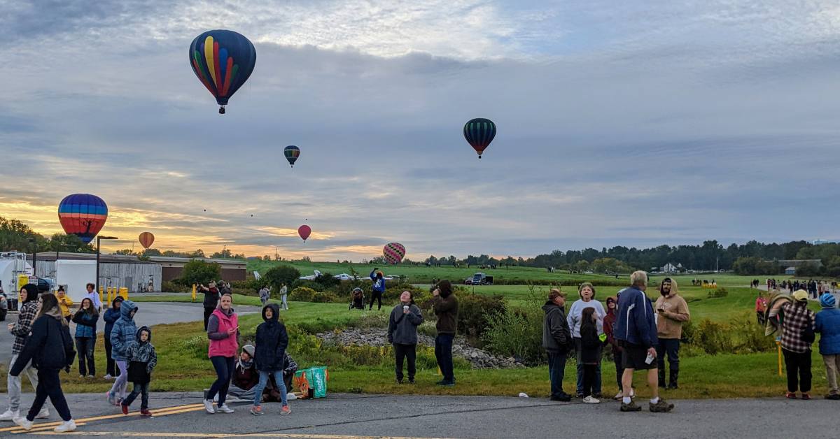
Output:
M162 250L355 261L395 241L423 260L840 238L840 2L0 9L0 216L39 233L89 192L107 250L144 231ZM225 115L187 58L208 29L257 52ZM482 159L470 118L498 127Z

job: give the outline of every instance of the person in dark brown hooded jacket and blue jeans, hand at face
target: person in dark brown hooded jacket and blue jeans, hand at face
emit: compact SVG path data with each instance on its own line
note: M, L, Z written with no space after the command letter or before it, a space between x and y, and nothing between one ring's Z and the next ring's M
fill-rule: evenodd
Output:
M438 337L434 339L434 358L438 360L440 373L444 379L438 385L455 385L455 372L452 364L452 343L458 332L458 298L452 293L452 283L441 280L432 291L432 311L438 316L435 328Z

